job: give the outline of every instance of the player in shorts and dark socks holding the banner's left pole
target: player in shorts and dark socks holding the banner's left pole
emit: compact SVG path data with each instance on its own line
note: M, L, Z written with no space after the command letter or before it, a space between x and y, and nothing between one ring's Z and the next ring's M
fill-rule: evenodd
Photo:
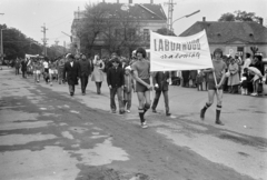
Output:
M139 101L138 111L141 122L141 128L148 128L145 113L150 108L150 62L146 60L147 52L142 48L138 48L136 51L137 61L131 64L134 71L134 78L136 80L136 92Z

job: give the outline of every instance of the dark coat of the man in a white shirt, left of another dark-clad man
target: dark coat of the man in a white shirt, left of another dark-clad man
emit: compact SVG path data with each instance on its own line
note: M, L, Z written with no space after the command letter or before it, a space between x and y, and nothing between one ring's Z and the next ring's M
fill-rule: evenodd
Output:
M70 62L66 62L65 63L65 68L63 68L63 79L66 80L67 77L67 81L68 84L73 86L73 84L78 84L78 77L79 77L79 63L73 61L73 66L70 66Z

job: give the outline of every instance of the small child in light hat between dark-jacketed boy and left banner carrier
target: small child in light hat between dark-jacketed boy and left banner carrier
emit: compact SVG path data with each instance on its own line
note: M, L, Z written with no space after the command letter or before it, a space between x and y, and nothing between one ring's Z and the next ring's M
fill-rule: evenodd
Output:
M131 76L131 68L130 66L125 68L125 88L123 88L123 106L126 108L126 112L130 112L131 108L131 97L132 97L132 89L135 90L135 82Z

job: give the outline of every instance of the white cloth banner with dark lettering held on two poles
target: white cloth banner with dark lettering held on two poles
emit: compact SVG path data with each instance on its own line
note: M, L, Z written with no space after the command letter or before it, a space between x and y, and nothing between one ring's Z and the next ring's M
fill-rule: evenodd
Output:
M161 36L150 31L150 71L212 68L206 31L190 37Z

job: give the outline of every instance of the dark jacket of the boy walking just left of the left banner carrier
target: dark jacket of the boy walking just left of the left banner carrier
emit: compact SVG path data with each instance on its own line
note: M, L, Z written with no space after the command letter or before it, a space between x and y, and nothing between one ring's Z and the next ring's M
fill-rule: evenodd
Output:
M108 86L111 86L112 88L119 88L125 86L125 72L122 68L109 68L107 73L107 82Z

